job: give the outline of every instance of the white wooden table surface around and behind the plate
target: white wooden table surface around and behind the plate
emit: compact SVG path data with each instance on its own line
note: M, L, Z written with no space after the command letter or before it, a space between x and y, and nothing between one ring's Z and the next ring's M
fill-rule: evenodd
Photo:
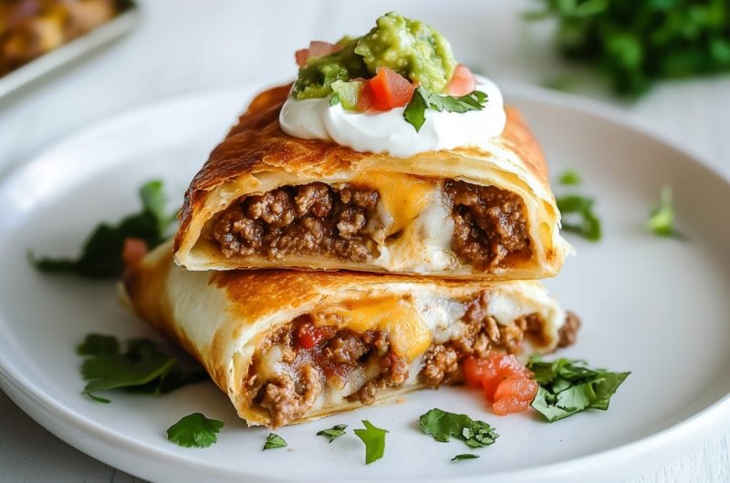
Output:
M422 18L452 40L467 64L497 81L539 83L564 66L528 27L529 0L359 3L318 0L141 0L141 26L96 55L0 100L0 174L78 129L160 98L293 74L293 53L310 39L365 32L389 10ZM448 6L447 6L448 5ZM534 5L534 4L532 4ZM730 177L730 77L665 83L633 105L604 94L663 136ZM730 431L634 481L730 481ZM0 480L130 482L130 475L49 434L0 392Z

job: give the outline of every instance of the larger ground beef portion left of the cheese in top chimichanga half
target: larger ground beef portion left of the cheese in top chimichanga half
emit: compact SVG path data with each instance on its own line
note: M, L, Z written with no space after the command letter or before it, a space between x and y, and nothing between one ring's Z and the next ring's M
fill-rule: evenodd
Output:
M324 183L286 186L233 203L214 221L211 238L225 257L327 254L350 262L377 258L367 233L377 190Z

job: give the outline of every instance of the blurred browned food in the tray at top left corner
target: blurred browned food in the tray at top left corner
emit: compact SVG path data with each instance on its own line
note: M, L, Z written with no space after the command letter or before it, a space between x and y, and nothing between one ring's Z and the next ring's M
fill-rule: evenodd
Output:
M117 0L0 0L0 76L107 22Z

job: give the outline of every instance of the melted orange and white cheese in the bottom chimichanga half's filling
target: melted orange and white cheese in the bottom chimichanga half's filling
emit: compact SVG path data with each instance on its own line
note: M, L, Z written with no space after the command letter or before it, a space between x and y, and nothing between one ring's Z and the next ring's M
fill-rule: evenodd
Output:
M403 357L408 364L408 378L398 388L384 389L385 393L401 393L422 385L419 374L429 347L459 339L466 327L462 320L467 306L464 300L454 300L431 292L404 295L404 287L400 288L399 291L396 284L391 287L392 293L379 298L346 300L318 307L312 312L338 315L339 329L347 328L355 333L380 330L388 334L391 351ZM549 352L554 348L565 313L543 289L527 283L520 284L510 293L495 291L488 296L486 314L494 317L497 324L514 325L520 317L531 313L539 315L547 342L544 346L537 346L526 339L523 343L527 348L526 355L533 351ZM332 320L328 317L321 319ZM296 379L297 375L291 365L282 362L282 355L286 351L283 344L275 344L265 354L255 356L258 360L259 381L273 379L278 375ZM368 359L352 369L339 384L325 384L313 406L303 416L317 415L330 407L341 406L348 396L357 393L360 387L379 375L378 361Z

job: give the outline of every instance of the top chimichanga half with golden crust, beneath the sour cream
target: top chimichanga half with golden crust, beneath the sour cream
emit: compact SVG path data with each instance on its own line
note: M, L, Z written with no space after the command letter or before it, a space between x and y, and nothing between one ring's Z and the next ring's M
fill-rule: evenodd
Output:
M193 179L175 238L181 266L489 279L560 269L571 249L545 159L516 109L488 150L394 158L287 135L278 114L288 93L256 97Z

